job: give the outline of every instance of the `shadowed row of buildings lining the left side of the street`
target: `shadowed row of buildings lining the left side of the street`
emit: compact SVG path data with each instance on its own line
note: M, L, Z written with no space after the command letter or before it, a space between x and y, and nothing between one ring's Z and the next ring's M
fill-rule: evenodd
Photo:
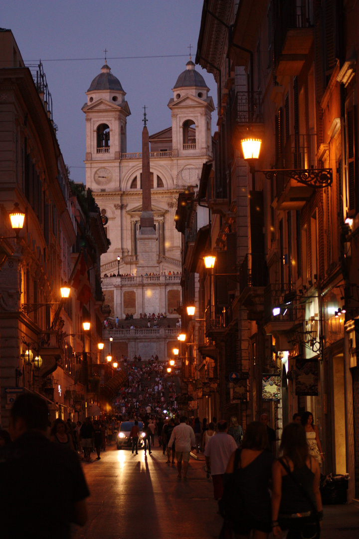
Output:
M83 419L100 395L90 383L100 356L90 351L102 338L108 242L90 192L69 182L42 65L24 65L10 30L0 31L0 49L1 424L23 391L46 399L51 419ZM18 237L9 219L15 203L25 213ZM84 319L92 322L86 336Z

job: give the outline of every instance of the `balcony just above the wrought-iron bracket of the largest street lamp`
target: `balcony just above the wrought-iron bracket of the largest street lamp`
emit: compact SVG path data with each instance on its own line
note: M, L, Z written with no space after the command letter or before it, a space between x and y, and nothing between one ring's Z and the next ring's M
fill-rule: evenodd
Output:
M314 137L311 135L289 136L282 156L283 168L292 169L293 172L311 168L314 164L311 158L315 155L314 143ZM276 175L275 182L278 210L301 210L314 192L314 188L310 185L280 173Z

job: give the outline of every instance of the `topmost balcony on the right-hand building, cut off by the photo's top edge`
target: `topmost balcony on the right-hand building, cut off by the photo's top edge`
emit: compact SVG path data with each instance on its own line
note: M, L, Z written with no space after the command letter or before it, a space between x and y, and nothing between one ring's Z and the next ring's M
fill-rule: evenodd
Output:
M281 0L279 4L278 15L270 14L274 19L273 71L278 82L280 77L300 73L314 39L312 2Z

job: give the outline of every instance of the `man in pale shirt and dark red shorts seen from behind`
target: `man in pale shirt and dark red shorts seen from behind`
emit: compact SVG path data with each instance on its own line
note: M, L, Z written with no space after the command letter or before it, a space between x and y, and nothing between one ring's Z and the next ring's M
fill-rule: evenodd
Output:
M217 429L216 436L209 438L205 449L207 470L212 475L215 500L222 497L223 475L226 473L230 455L237 449L234 438L227 434L227 421L224 419L219 421Z

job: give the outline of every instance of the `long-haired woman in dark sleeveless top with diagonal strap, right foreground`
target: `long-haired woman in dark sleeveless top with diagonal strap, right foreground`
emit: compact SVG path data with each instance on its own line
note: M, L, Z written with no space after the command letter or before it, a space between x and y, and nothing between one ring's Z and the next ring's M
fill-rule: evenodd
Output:
M283 454L272 467L272 531L289 530L287 539L314 539L323 516L320 468L309 454L304 427L288 424L279 447Z

